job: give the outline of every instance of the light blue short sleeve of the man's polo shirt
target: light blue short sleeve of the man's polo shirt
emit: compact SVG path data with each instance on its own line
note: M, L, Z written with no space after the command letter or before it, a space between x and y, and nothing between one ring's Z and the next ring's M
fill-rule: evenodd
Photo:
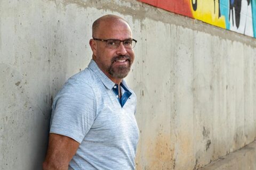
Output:
M92 88L83 81L68 81L54 99L50 133L65 135L81 143L94 118Z

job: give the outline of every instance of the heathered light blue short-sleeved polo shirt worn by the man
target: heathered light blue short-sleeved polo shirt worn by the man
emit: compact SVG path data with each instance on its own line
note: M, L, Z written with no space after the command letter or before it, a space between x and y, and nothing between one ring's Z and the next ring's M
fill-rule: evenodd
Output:
M55 97L50 133L80 143L69 169L135 169L139 139L134 116L136 96L123 80L121 92L126 101L122 107L122 98L120 101L116 97L114 86L91 60L85 70L68 79Z

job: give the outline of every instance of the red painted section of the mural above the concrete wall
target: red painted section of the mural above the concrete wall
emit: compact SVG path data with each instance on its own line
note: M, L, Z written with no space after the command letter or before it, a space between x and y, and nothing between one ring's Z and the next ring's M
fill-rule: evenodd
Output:
M190 0L138 0L166 11L189 16L193 18L190 6Z

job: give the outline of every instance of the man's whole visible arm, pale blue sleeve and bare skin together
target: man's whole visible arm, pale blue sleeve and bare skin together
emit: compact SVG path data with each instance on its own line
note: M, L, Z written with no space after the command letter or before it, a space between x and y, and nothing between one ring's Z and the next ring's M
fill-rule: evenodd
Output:
M68 82L53 102L44 169L68 169L68 164L90 130L94 117L92 88L80 81Z

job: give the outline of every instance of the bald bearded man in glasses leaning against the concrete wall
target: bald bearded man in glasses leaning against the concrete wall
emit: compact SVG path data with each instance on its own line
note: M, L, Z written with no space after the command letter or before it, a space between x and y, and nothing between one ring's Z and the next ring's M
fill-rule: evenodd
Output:
M92 26L92 60L53 102L43 169L135 169L136 96L123 78L134 61L129 24L105 15Z

